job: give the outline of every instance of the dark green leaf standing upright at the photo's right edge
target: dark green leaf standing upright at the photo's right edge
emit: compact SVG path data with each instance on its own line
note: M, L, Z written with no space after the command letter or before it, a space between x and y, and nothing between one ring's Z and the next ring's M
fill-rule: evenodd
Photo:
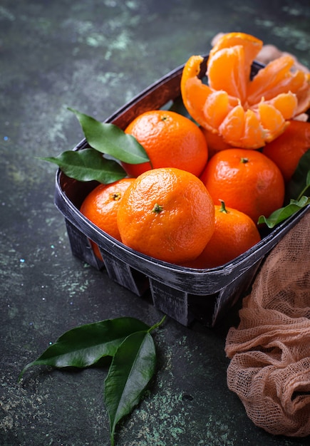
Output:
M310 187L310 150L307 150L299 160L294 175L291 177L286 187L286 197L289 199L299 199L301 195L306 195L306 190ZM308 194L309 195L309 194Z

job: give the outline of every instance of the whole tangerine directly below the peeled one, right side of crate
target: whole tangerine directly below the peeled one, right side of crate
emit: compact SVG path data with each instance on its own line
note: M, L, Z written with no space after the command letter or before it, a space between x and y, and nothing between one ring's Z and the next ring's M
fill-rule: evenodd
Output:
M249 215L257 223L283 205L284 179L279 167L257 150L232 148L215 153L200 177L214 202Z

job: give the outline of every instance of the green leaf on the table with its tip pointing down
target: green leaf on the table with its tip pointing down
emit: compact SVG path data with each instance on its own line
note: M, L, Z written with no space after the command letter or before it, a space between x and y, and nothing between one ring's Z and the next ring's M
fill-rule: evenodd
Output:
M104 402L110 420L111 445L115 426L131 413L155 372L156 353L148 331L129 335L113 357L105 378Z

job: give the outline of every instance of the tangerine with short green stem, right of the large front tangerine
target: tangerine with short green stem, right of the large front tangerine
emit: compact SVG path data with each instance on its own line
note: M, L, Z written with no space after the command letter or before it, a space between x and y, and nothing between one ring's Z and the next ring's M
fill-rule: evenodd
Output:
M225 207L224 202L215 205L215 231L202 254L187 266L215 268L243 254L261 237L253 220L244 212Z

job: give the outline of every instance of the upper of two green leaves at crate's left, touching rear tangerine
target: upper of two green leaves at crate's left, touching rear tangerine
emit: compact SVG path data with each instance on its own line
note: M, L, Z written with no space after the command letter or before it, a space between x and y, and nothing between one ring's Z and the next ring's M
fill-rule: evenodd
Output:
M100 123L78 110L73 108L69 108L69 110L76 114L88 144L98 152L106 153L116 160L130 164L149 161L144 147L133 135L126 134L117 125Z

